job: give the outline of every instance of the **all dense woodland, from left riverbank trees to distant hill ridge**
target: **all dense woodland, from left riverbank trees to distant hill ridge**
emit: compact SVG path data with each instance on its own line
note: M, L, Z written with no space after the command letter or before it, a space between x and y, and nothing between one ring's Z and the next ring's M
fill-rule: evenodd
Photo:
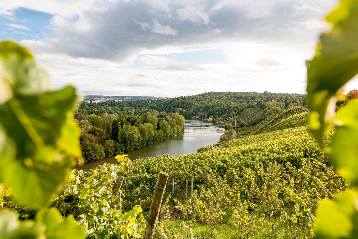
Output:
M250 124L255 125L282 109L305 104L305 95L207 92L172 99L83 103L75 112L75 119L82 130L83 157L92 162L167 139L184 128L184 117L213 116L215 122L220 121L219 117L226 119L247 108L261 107L262 116ZM228 129L220 140L230 139L232 131Z

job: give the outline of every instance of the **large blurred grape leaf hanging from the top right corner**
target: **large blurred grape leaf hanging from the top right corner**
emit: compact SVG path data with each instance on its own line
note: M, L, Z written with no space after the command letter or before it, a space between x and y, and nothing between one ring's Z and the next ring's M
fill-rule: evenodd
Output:
M321 147L334 115L336 93L358 73L358 0L342 0L326 20L333 28L321 35L316 55L307 62L309 128Z

